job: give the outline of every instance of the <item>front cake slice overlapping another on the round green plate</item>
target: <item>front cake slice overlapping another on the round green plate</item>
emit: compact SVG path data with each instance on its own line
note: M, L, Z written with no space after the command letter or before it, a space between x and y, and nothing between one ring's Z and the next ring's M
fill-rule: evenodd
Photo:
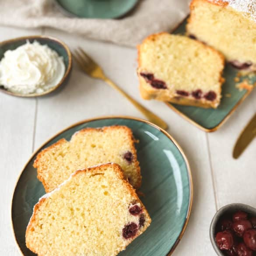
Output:
M117 164L75 172L35 205L26 245L39 256L115 256L151 223Z

